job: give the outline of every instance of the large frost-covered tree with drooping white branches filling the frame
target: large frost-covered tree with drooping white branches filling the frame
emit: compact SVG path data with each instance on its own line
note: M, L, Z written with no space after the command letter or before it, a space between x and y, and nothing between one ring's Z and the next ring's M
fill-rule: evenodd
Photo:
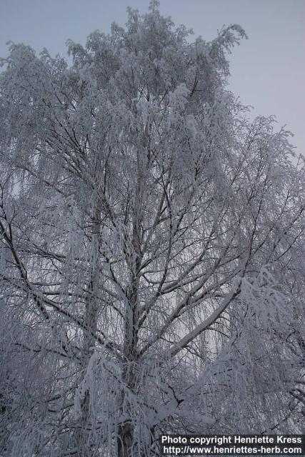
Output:
M151 1L0 76L1 456L299 432L304 167L226 89L245 36Z

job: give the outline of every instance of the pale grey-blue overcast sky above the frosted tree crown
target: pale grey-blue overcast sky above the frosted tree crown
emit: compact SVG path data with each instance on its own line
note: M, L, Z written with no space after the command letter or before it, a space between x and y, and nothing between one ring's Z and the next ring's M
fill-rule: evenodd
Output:
M6 41L65 54L66 39L84 44L91 31L123 25L126 6L144 12L145 0L0 0L0 56ZM305 154L305 0L161 0L161 13L213 39L224 24L249 35L229 56L229 88L254 114L276 115Z

